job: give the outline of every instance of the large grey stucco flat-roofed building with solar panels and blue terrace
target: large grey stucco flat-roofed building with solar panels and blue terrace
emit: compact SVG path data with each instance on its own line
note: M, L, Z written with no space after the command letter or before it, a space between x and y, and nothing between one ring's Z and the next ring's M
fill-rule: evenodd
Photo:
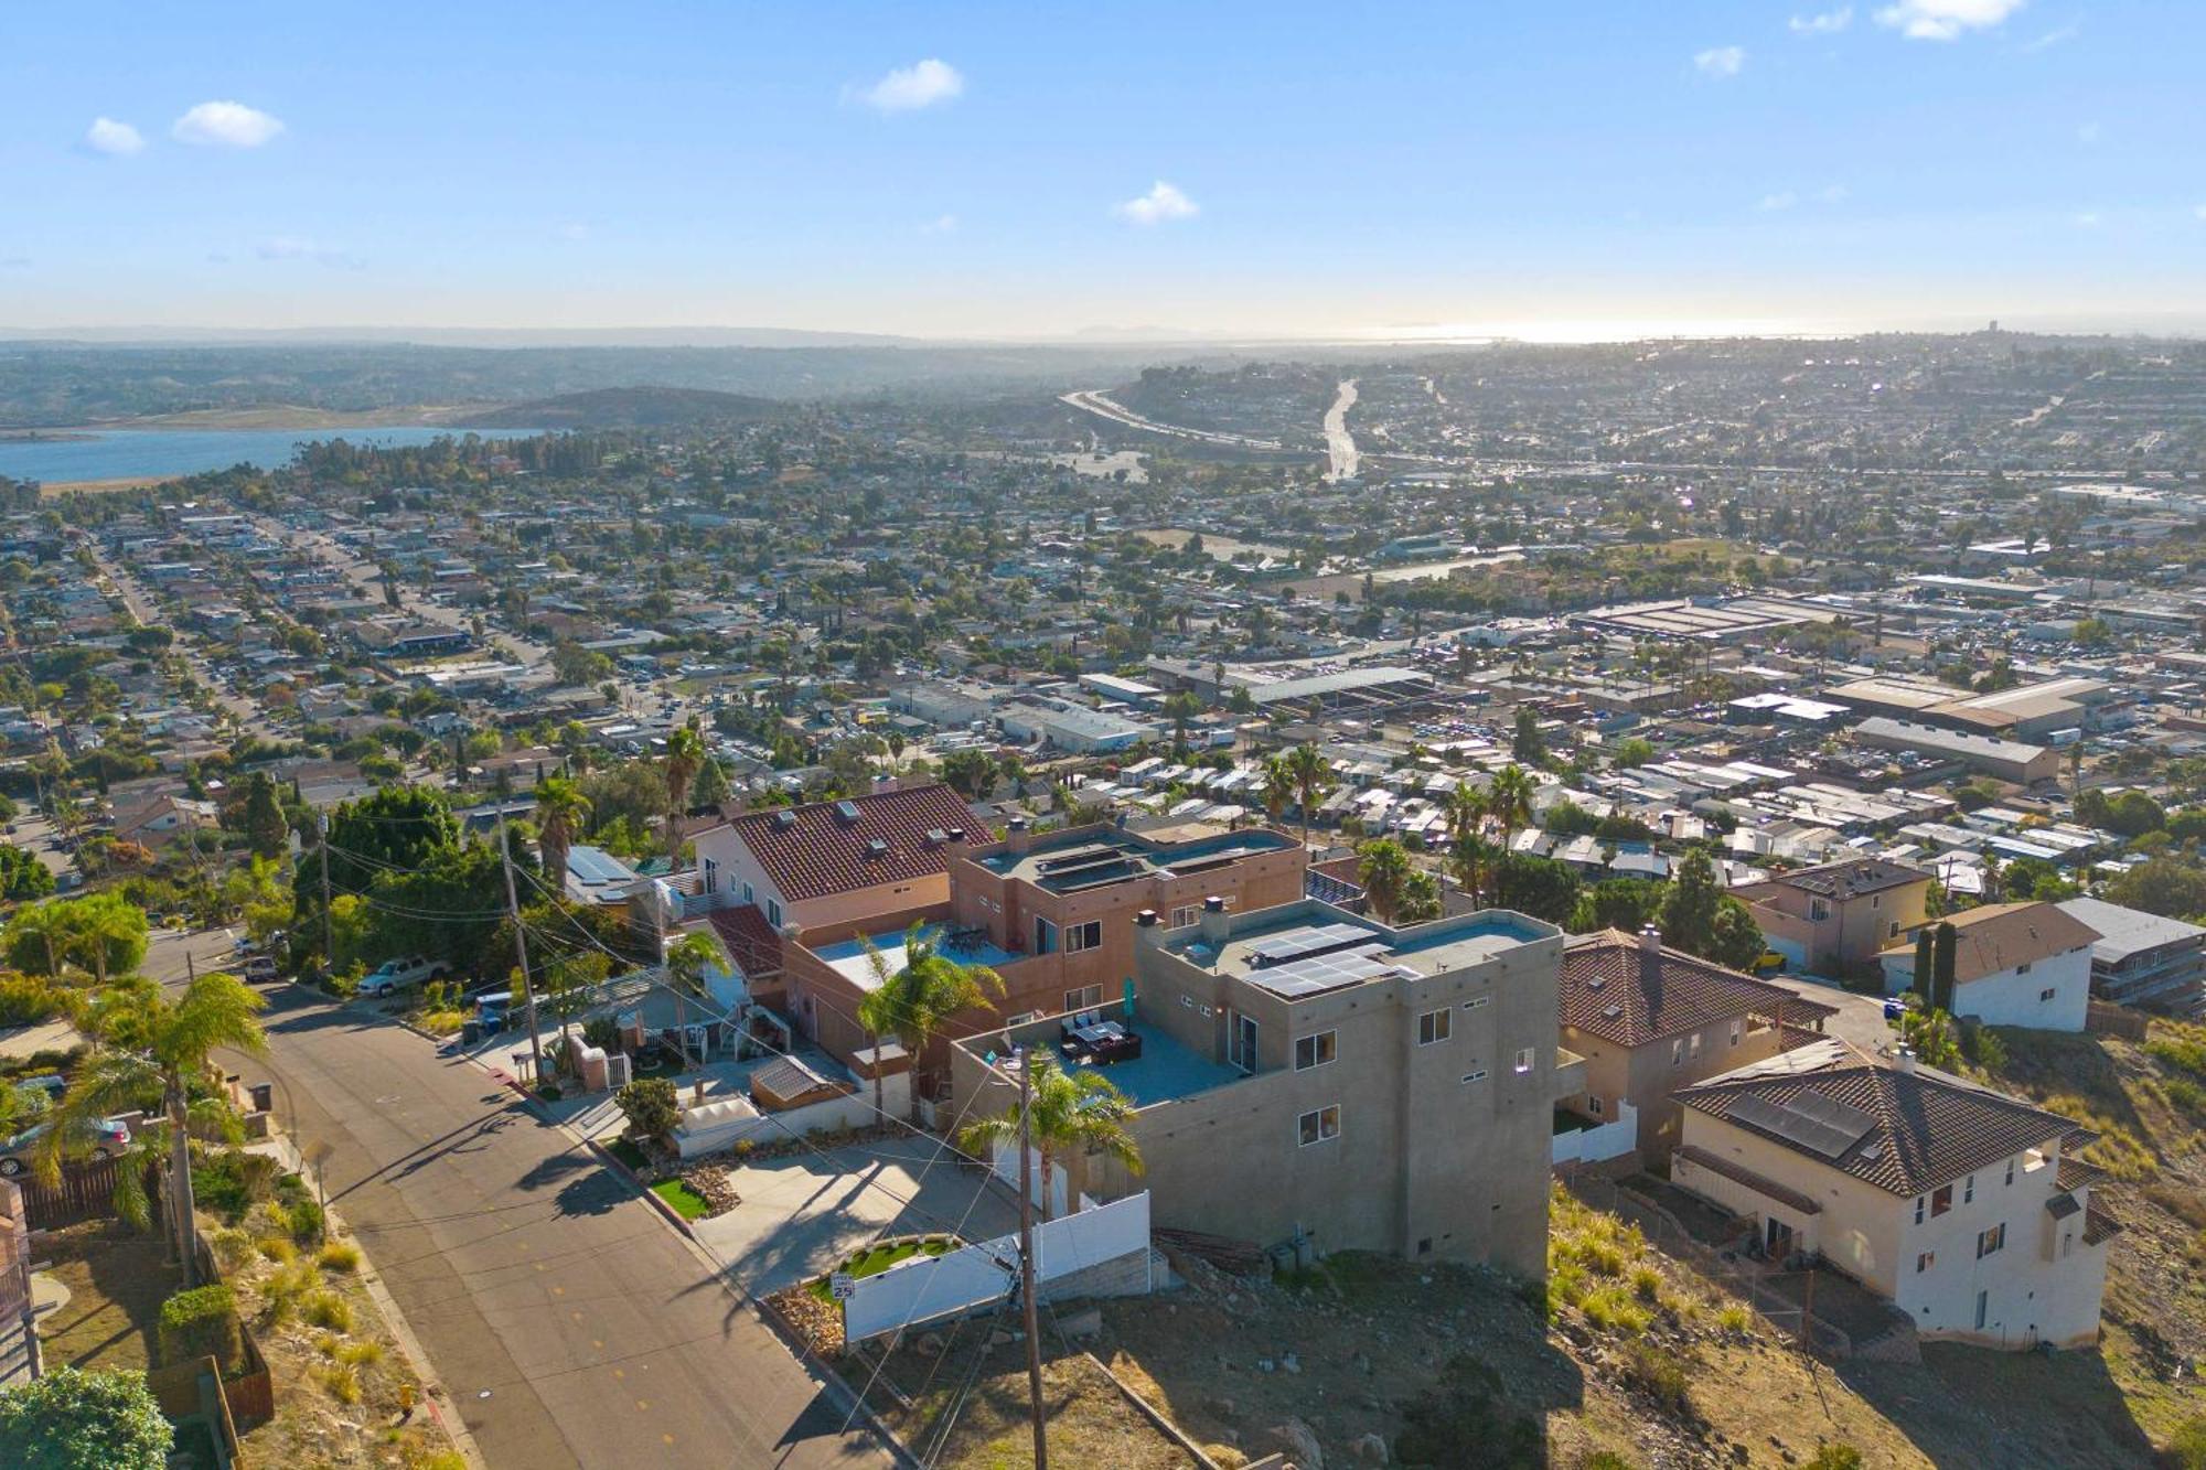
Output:
M1555 1046L1560 929L1392 929L1308 898L1136 929L1134 993L1081 1020L1132 1037L1096 1070L1134 1101L1145 1172L1068 1159L1068 1196L1147 1187L1167 1227L1544 1274L1553 1104L1584 1090ZM953 1106L1013 1108L1013 1048L1094 1066L1074 1042L1065 1018L960 1042Z

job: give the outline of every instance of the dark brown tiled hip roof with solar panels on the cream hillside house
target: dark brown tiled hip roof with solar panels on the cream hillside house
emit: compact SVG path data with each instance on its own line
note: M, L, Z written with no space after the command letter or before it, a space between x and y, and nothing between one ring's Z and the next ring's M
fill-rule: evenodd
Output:
M1822 1106L1844 1104L1868 1115L1868 1128L1835 1157L1824 1157L1763 1126L1758 1121L1765 1115L1763 1106L1741 1108L1747 1099L1782 1108L1809 1093L1820 1093ZM1674 1097L1696 1112L1725 1119L1902 1196L1948 1185L1963 1174L1988 1170L2001 1159L2045 1148L2056 1139L2069 1148L2076 1135L2071 1119L2034 1108L2018 1097L2005 1097L1926 1066L1904 1073L1857 1055L1809 1068L1758 1062L1699 1086L1679 1088ZM1741 1117L1741 1112L1749 1117Z

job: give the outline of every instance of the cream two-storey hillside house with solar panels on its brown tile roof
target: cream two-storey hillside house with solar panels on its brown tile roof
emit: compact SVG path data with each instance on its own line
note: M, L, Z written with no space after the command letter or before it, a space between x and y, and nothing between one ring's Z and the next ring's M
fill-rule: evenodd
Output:
M1902 1053L1818 1042L1679 1093L1672 1183L1822 1260L1924 1338L2001 1349L2098 1340L2120 1232L2076 1152L2096 1135Z

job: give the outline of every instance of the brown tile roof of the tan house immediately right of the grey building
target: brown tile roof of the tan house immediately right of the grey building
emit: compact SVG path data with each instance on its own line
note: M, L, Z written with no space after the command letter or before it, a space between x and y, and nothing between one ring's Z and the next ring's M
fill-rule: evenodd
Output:
M1659 978L1648 978L1639 940L1621 929L1573 938L1562 951L1560 1020L1617 1046L1699 1031L1714 1022L1767 1015L1811 1024L1838 1006L1805 1000L1734 969L1663 947Z

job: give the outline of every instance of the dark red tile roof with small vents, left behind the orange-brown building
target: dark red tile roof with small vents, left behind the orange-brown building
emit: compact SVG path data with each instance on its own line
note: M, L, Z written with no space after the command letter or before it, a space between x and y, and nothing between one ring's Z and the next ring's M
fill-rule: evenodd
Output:
M843 817L845 806L856 808L856 821ZM988 837L964 797L940 781L748 812L728 825L788 903L931 878L946 870L946 850L929 843L929 832L964 828L968 839Z

